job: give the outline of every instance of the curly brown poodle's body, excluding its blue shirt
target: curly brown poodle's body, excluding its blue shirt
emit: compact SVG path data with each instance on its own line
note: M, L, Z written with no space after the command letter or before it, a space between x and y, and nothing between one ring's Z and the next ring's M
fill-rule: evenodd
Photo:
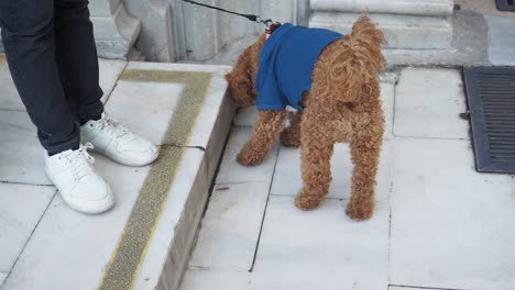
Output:
M265 36L240 56L226 76L237 105L253 105L260 51ZM354 220L370 219L374 211L377 163L384 131L379 70L386 68L381 44L386 41L368 16L361 16L352 33L329 44L313 70L311 90L305 91L291 126L283 130L285 110L258 113L251 140L238 155L243 165L263 161L274 142L302 150L303 188L295 204L303 210L318 207L331 182L330 158L336 142L350 143L352 194L346 213Z

